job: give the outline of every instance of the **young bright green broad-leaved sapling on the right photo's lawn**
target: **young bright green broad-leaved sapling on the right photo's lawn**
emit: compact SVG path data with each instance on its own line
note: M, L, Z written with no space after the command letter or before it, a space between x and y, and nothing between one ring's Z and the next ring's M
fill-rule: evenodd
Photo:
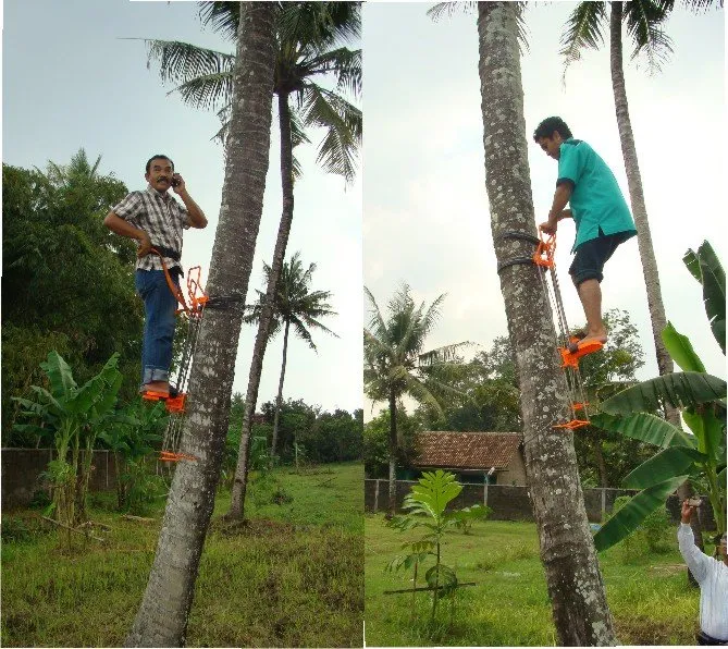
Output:
M486 515L485 507L482 505L468 507L468 512L446 512L447 504L460 491L462 491L462 486L456 482L454 474L443 470L424 472L419 482L412 486L411 492L405 498L403 509L409 510L409 512L402 516L394 516L387 523L387 527L399 531L407 531L417 527L427 529L422 538L404 543L403 550L407 549L409 553L396 556L384 570L396 572L400 568L405 571L412 568L412 592L416 592L420 565L429 558L434 558L434 565L424 574L428 590L433 592L431 621L435 617L440 599L454 593L458 587L455 571L445 565L441 559L443 536L448 528L462 525L464 522L473 516L482 519Z

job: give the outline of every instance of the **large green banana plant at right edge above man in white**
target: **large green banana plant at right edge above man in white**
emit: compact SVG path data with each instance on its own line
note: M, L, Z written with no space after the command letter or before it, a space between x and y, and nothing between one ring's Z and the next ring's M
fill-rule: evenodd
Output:
M688 250L683 261L703 286L705 311L713 335L725 355L726 275L710 243ZM686 479L708 487L718 532L726 531L726 381L705 371L690 340L671 322L662 332L675 363L683 370L643 381L601 404L592 423L654 444L659 451L622 481L641 489L594 536L597 550L606 550L629 536ZM663 404L682 408L690 428L686 433L654 413Z

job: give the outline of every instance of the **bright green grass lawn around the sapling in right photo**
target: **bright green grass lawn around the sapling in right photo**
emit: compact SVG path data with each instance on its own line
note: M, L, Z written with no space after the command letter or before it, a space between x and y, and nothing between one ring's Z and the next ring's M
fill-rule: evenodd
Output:
M384 573L417 532L400 534L384 526L381 514L365 516L367 645L427 646L555 646L543 566L532 523L476 523L469 535L447 535L443 563L460 581L477 586L457 591L456 605L443 601L434 625L428 623L430 595L383 595L411 587L411 572ZM676 529L666 530L673 535ZM700 591L687 584L682 558L629 554L620 547L600 555L607 601L620 645L693 645L698 630ZM429 567L431 563L428 563ZM423 574L423 573L420 573ZM419 577L419 586L423 586Z

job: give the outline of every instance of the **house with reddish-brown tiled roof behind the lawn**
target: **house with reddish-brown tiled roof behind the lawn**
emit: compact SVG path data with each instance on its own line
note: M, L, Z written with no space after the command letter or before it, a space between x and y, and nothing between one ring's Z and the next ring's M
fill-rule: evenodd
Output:
M490 485L526 485L526 464L519 432L443 432L415 434L419 470L446 469L460 481Z

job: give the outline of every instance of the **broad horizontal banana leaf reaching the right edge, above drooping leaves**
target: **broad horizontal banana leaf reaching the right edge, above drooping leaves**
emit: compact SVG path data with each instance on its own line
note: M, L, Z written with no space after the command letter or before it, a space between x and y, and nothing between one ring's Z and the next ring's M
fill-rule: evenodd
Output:
M726 381L704 372L686 371L665 375L627 388L600 406L610 415L656 411L665 402L674 407L689 407L726 396Z

